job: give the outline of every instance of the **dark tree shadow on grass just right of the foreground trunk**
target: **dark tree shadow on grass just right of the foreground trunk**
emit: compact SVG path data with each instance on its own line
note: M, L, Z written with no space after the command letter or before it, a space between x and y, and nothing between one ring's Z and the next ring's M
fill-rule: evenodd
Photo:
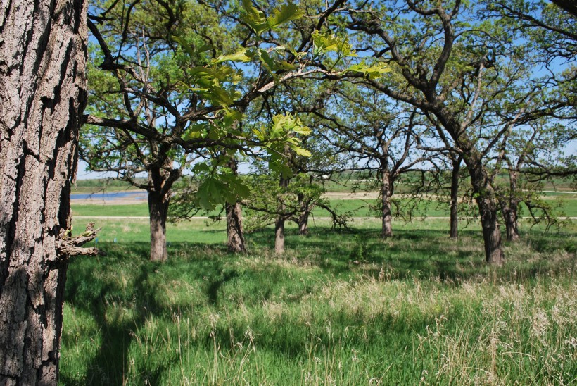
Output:
M99 335L94 344L99 344L99 347L87 363L83 379L67 377L64 373L60 379L62 385L78 385L79 382L84 385L123 385L127 379L134 380L135 377L138 382L141 380L148 385L158 385L163 374L177 360L175 353L169 354L174 358L167 358L165 353L162 360L144 359L144 365L143 359L137 359L140 363L129 363L131 345L134 348L134 344L140 344L135 336L145 328L146 320L170 320L172 317L170 306L158 302L158 287L154 283L159 278L154 276L159 274L159 269L171 269L171 264L177 269L182 268L183 264L174 256L165 263L153 263L148 261L148 243L129 244L126 248L119 244L102 243L101 247L108 251L108 255L99 258L100 261L73 259L70 265L65 301L93 318ZM193 273L189 279L200 282L208 304L216 306L222 285L239 276L239 273L224 270L219 257L201 259L202 255L206 256L207 247L204 244L174 243L173 249L177 252L189 251L194 255L186 259L191 268L186 273ZM127 250L130 251L129 256L123 256ZM224 259L227 258L225 252L226 247L210 248L210 253ZM99 272L106 274L99 275ZM110 275L110 272L116 275ZM154 367L149 367L148 363L153 363ZM134 372L137 374L134 375Z

